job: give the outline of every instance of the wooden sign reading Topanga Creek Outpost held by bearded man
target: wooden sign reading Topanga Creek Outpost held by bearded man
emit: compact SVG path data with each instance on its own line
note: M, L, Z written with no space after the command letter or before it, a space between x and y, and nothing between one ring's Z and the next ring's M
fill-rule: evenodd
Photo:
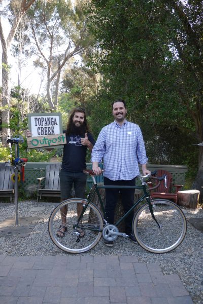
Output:
M27 137L28 148L59 148L66 143L61 113L28 114L28 128L32 133L32 137Z

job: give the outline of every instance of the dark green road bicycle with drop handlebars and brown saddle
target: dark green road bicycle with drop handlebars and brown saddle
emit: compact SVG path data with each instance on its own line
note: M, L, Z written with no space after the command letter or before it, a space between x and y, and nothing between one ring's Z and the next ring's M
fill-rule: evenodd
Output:
M133 212L138 206L141 207L134 212L132 231L140 246L153 253L165 253L174 250L181 244L187 231L187 223L182 210L169 200L152 200L149 193L152 188L149 188L146 182L150 179L157 180L158 184L153 189L157 188L161 180L165 178L164 175L162 177L155 177L152 174L140 175L140 186L122 186L122 188L142 189L143 195L137 202L134 202L126 214L112 225L104 217L105 208L99 189L121 188L121 186L97 185L93 171L84 170L84 172L90 174L93 179L93 186L87 199L65 200L50 214L49 235L58 248L69 253L82 253L96 246L102 236L107 241L114 241L118 237L129 238L125 233L119 232L117 226L128 216L129 212ZM101 211L91 202L94 195L98 196ZM58 238L56 234L61 224L61 208L64 206L67 209L67 232L63 238ZM78 215L78 209L82 209L80 215Z

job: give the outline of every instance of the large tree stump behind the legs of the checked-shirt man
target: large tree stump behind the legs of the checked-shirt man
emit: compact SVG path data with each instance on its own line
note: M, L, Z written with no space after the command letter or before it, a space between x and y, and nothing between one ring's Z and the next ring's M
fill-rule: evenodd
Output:
M104 203L104 207L105 207L105 203L106 203L106 192L105 192L105 189L99 189L99 194L100 194L100 197L101 197L101 200L103 201ZM134 192L134 201L136 202L141 196L141 192L136 189L135 192ZM101 211L101 207L100 207L100 203L99 203L99 199L98 199L98 196L95 195L91 202L97 206L97 208ZM134 212L136 212L138 210L138 208L140 207L137 206L135 209L134 209ZM102 213L102 212L101 212ZM117 205L116 205L116 208L115 208L115 213L114 213L114 223L116 223L122 216L124 215L124 210L123 210L123 205L121 203L121 197L119 195L119 200L117 202ZM91 215L90 215L90 222L91 222ZM119 232L125 232L125 221L123 220L120 225L118 226L118 229L119 229Z

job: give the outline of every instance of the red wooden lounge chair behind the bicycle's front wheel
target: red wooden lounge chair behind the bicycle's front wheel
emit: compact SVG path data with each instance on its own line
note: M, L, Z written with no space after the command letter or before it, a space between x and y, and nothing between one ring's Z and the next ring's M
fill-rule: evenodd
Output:
M157 170L156 176L160 177L163 174L166 174L166 184L165 181L162 180L159 187L157 189L151 191L152 199L166 199L171 200L177 204L178 200L178 191L183 185L175 185L173 184L172 174L165 170ZM174 192L173 192L174 190Z

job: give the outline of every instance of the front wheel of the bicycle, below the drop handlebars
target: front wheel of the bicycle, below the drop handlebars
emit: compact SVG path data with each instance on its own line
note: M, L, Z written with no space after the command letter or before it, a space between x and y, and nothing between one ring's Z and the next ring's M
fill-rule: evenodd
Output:
M151 202L153 219L148 203L133 218L133 232L138 243L147 251L165 253L178 247L183 241L187 223L182 210L173 202L156 199Z

